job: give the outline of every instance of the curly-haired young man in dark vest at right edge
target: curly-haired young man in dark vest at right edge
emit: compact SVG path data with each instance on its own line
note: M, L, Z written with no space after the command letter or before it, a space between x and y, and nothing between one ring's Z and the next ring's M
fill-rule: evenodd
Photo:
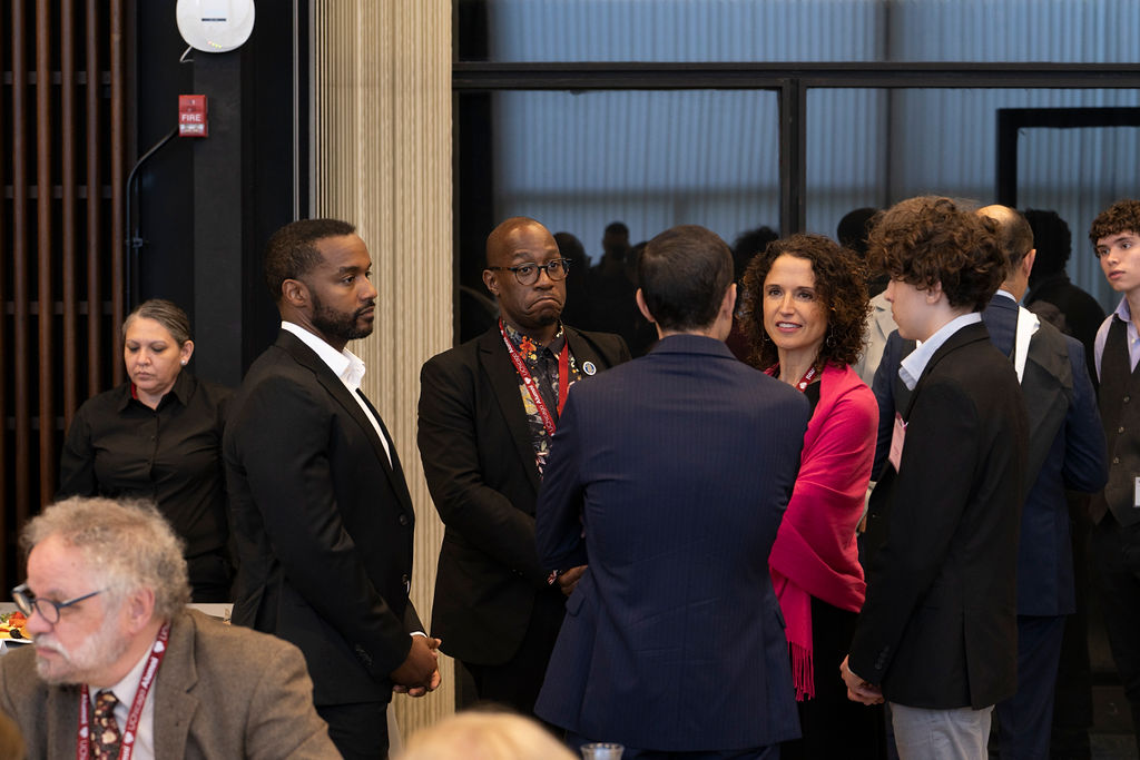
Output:
M1121 304L1097 332L1100 419L1108 442L1108 484L1093 497L1092 554L1104 583L1105 628L1132 705L1140 746L1140 201L1117 201L1089 229L1100 268Z

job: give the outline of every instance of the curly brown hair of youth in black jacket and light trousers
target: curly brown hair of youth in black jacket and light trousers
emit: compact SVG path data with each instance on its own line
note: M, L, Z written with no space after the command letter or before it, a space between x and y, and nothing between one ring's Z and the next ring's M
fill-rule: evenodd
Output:
M919 291L940 283L955 309L980 311L1005 278L996 223L937 196L901 201L882 212L868 238L868 259Z

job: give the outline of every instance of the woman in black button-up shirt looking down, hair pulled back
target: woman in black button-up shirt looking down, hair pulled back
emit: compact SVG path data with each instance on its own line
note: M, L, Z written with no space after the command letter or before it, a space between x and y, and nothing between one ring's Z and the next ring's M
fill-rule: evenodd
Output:
M59 493L146 499L185 544L195 602L228 602L230 561L221 434L233 391L185 371L190 320L170 301L123 322L130 382L80 407L67 431Z

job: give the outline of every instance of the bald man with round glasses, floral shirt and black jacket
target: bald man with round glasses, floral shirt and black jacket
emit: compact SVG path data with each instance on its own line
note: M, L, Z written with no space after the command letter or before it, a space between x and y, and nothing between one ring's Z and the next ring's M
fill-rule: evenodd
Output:
M487 238L483 272L502 321L421 371L420 456L446 525L432 635L471 672L480 700L524 714L535 710L565 595L583 572L568 566L552 578L535 548L535 501L560 399L629 358L617 335L559 321L575 263L537 221L504 221Z

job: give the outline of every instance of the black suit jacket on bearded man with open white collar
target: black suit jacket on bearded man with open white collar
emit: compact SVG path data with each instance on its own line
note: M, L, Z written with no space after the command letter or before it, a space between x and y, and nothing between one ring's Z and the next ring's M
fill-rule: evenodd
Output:
M408 600L415 514L388 441L392 465L344 384L285 330L250 367L226 427L234 622L296 644L318 705L389 700L421 629Z

